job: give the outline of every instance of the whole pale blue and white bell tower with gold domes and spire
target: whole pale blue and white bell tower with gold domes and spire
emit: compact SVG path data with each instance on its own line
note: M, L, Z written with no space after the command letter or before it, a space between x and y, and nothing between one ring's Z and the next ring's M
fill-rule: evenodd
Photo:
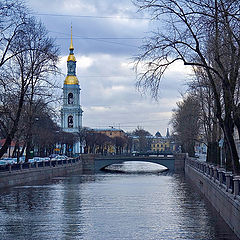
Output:
M67 76L63 84L63 106L61 109L61 128L64 132L79 134L82 128L82 108L80 105L80 86L76 76L76 58L74 56L71 27L70 53L67 59ZM71 149L73 154L81 153L81 144L77 142Z

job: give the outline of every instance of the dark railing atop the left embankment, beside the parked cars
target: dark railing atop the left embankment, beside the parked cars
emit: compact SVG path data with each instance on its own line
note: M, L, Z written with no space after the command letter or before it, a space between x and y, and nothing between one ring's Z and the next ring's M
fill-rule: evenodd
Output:
M3 172L14 172L14 171L23 171L23 170L31 170L36 168L49 168L49 167L57 167L57 166L66 166L78 163L81 161L80 156L76 158L68 158L68 159L50 159L48 161L42 162L25 162L25 163L16 163L16 164L7 164L0 165L0 174Z

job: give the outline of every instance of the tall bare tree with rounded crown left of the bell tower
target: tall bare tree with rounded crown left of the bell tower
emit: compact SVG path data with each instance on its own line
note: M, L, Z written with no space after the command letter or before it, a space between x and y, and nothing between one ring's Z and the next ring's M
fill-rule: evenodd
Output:
M58 48L54 40L47 36L44 26L33 17L25 19L21 32L14 38L11 51L15 54L1 69L1 83L3 99L0 99L2 115L7 114L8 121L1 121L2 128L8 129L5 144L0 149L0 157L7 150L8 145L18 130L24 102L29 102L28 146L31 142L31 128L33 121L32 103L46 93L51 86L49 74L55 73L58 62ZM9 109L9 101L5 96L15 96L14 111Z

